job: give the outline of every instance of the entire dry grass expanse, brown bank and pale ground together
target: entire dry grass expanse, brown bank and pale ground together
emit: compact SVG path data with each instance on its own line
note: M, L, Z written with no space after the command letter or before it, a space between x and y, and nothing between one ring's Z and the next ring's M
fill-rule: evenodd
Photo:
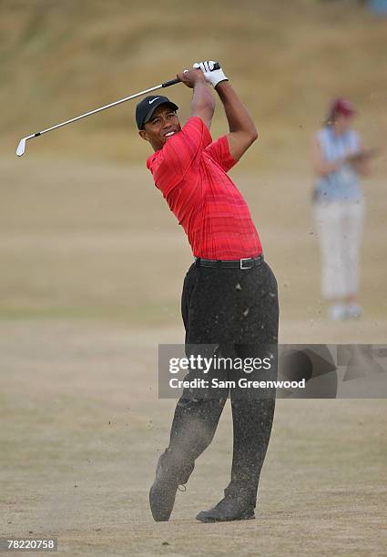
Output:
M173 522L151 520L173 411L157 400L157 346L183 339L186 238L144 167L133 105L14 153L35 129L218 58L260 127L232 176L279 279L280 339L385 342L385 159L366 185L365 318L332 325L308 150L337 93L360 107L367 142L385 143L385 24L350 0L0 0L0 11L1 531L56 534L69 555L382 555L382 400L279 400L260 519L202 525L194 515L228 481L227 410ZM184 119L188 92L170 93ZM224 128L218 114L214 135Z

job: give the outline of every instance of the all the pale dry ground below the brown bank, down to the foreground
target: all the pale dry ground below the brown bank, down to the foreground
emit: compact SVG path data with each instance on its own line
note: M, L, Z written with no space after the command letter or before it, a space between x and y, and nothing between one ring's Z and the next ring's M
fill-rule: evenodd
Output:
M191 261L143 168L0 161L0 530L68 555L383 555L385 400L278 400L258 519L201 524L229 481L229 407L171 521L148 488L174 400L158 344L181 342ZM364 318L319 296L308 172L235 171L280 286L282 342L386 339L385 182L367 184Z

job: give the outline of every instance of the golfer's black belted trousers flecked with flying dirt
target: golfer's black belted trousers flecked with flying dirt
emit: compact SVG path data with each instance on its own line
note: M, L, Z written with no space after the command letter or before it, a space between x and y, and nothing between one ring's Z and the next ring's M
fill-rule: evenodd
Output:
M203 268L193 264L184 280L181 303L186 329L186 352L239 359L263 358L270 352L270 379L277 377L279 304L277 281L270 267ZM203 348L200 349L200 346ZM186 379L196 376L189 371ZM220 380L236 380L236 387L198 392L183 391L175 410L168 455L178 481L188 480L199 455L209 446L228 397L233 420L231 480L225 495L243 498L255 507L260 470L270 440L275 391L239 388L240 372L214 371ZM264 375L264 374L263 374ZM268 379L254 371L249 379ZM237 377L238 376L238 377Z

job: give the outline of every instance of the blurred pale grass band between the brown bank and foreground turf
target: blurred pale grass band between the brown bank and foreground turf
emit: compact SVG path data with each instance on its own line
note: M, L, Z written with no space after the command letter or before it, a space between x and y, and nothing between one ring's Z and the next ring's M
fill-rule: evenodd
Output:
M174 324L187 240L145 167L36 161L0 163L0 314ZM247 198L279 278L282 319L324 320L308 173L232 176ZM384 181L367 187L362 255L366 315L386 316Z

